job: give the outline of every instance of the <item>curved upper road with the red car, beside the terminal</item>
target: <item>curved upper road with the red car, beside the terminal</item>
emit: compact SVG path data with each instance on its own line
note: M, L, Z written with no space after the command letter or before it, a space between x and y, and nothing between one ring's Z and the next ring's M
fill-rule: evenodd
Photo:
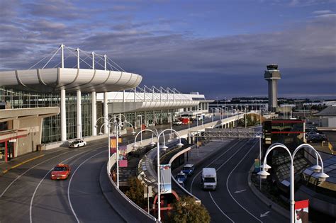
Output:
M107 152L106 142L94 142L13 169L0 181L0 222L123 222L99 186ZM52 181L50 170L59 163L69 164L72 174Z

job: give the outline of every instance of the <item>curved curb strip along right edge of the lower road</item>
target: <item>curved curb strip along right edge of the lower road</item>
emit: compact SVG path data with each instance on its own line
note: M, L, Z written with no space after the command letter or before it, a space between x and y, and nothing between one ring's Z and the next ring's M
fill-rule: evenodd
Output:
M271 207L272 210L278 212L280 215L289 219L289 210L286 210L284 209L284 207L281 207L280 205L276 204L276 202L269 200L269 198L267 198L263 193L261 193L257 188L254 187L254 184L251 181L253 169L254 166L250 168L249 175L247 176L247 182L252 190L252 193L254 193L254 195L256 195L256 197L259 198L259 200L264 202L265 205Z

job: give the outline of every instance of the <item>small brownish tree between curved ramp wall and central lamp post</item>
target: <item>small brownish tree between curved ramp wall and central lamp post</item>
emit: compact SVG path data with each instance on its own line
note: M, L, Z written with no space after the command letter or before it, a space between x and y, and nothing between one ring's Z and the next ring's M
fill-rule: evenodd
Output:
M130 188L125 192L125 195L128 196L130 200L133 200L135 204L144 207L147 202L143 197L143 185L139 179L134 176L128 178L128 185L130 185Z

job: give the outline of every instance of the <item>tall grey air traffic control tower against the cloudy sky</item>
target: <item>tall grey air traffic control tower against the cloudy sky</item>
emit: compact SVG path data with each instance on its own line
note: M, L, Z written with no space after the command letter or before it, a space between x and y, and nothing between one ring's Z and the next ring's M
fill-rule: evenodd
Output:
M269 111L276 112L278 107L278 80L281 79L278 65L267 65L264 78L269 82Z

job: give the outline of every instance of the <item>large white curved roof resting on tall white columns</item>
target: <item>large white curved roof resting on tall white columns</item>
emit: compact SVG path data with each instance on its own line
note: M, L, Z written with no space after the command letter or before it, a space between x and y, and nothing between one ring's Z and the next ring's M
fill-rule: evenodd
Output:
M0 72L0 78L0 86L45 93L61 88L67 92L121 91L134 88L142 81L141 75L128 72L60 67Z

